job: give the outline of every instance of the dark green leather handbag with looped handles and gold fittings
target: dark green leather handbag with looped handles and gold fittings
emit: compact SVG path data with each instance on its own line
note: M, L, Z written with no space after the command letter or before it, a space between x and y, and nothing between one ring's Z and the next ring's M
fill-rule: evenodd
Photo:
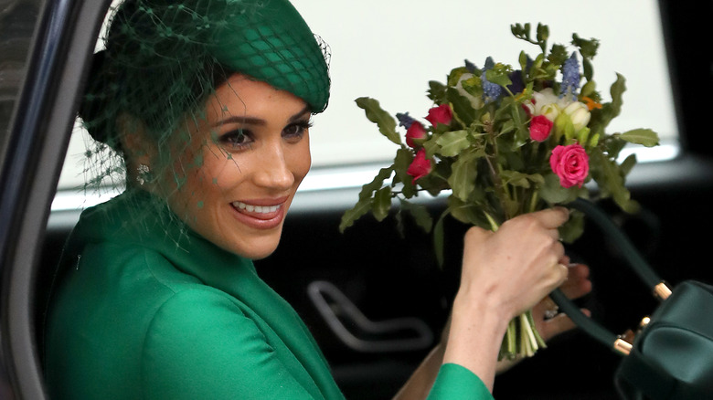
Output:
M614 374L619 395L636 400L713 399L713 287L687 280L669 289L599 207L582 199L570 206L620 246L639 278L662 301L644 318L632 341L584 315L559 289L551 294L582 331L623 355Z

